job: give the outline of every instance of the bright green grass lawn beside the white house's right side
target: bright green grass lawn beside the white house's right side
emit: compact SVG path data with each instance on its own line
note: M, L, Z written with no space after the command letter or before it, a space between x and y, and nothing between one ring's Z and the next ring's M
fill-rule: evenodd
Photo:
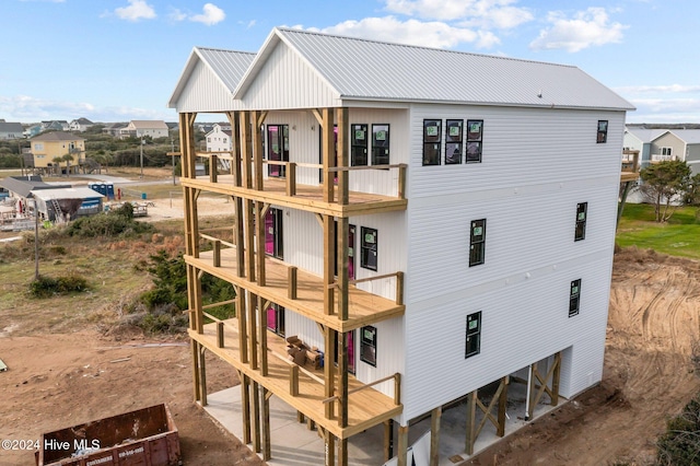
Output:
M672 256L700 259L700 219L697 208L681 207L667 223L654 221L654 206L628 203L617 231L621 247L637 246Z

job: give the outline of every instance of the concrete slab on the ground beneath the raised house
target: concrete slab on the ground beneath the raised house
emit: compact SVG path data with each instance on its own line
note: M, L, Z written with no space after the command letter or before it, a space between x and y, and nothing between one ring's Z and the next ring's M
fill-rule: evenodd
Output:
M509 386L508 419L505 435L509 435L528 422L524 420L526 387L512 383ZM232 387L209 394L209 405L206 411L224 429L236 438L243 439L243 421L241 411L241 388ZM481 398L485 403L485 398ZM545 395L542 403L548 403ZM567 400L562 398L559 406ZM488 403L487 403L488 405ZM534 419L556 409L550 405L539 404L535 409ZM477 413L477 424L483 416ZM530 420L532 421L532 420ZM412 424L409 429L409 445L417 442L430 431L430 417ZM317 431L310 431L306 423L296 421L296 411L277 397L270 398L270 433L272 459L270 466L307 466L323 465L325 444ZM396 444L396 433L394 435ZM466 405L455 404L442 413L440 435L440 465L453 466L469 458L465 453L466 439ZM486 422L475 444L475 454L501 440L495 435L495 428ZM348 441L348 458L350 465L383 465L384 464L384 429L376 426ZM248 445L249 447L252 445ZM451 459L452 458L452 459ZM416 466L422 466L416 463Z

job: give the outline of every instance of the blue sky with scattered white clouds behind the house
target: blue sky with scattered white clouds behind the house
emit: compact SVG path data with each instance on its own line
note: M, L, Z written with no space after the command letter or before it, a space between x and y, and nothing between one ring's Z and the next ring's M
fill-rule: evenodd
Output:
M573 65L700 123L697 0L0 0L0 118L175 121L194 46L257 51L275 26ZM215 118L214 118L215 119Z

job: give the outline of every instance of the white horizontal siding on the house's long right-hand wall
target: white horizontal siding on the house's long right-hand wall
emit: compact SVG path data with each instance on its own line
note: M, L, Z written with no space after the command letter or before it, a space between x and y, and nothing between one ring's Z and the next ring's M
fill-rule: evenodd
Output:
M423 119L443 119L444 130L447 118L483 119L481 163L421 166ZM623 118L413 108L402 421L557 351L563 396L600 380ZM596 143L599 119L609 121L607 143ZM579 202L588 202L586 237L574 242ZM470 221L479 219L487 219L486 263L469 267ZM576 279L581 311L570 318ZM479 311L480 353L465 359L466 316Z

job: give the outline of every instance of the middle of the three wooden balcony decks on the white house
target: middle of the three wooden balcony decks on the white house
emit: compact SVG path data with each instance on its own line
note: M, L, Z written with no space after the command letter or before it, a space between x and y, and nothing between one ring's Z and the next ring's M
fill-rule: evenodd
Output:
M281 260L266 256L265 286L238 276L237 254L233 244L219 242L213 251L203 252L199 257L185 256L187 264L210 275L234 283L243 289L301 314L320 325L346 333L388 318L404 315L402 304L404 275L396 272L363 280L351 280L348 287L348 319L341 321L337 314L326 314L324 310L323 278L298 269ZM224 247L222 247L222 245ZM229 247L225 247L229 246ZM396 286L396 300L372 294L358 289L359 281L393 280ZM339 293L335 293L336 299ZM336 302L335 308L338 308Z

